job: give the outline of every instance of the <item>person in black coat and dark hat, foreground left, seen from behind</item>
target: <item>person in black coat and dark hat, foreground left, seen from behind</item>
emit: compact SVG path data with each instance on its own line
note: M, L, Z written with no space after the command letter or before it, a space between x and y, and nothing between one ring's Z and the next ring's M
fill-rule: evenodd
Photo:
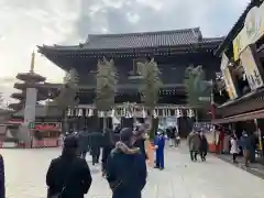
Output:
M91 174L87 162L77 157L78 140L67 136L63 153L54 158L46 174L47 197L84 198L91 186Z

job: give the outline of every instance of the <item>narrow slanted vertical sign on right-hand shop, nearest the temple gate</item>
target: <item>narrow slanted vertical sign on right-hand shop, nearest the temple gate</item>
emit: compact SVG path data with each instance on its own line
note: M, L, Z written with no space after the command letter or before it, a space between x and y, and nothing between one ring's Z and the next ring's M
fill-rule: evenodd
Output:
M221 72L222 72L223 80L226 84L226 89L229 94L230 99L235 99L235 98L238 98L238 91L233 84L233 77L232 77L231 70L228 65L229 65L229 58L223 53L222 61L221 61Z

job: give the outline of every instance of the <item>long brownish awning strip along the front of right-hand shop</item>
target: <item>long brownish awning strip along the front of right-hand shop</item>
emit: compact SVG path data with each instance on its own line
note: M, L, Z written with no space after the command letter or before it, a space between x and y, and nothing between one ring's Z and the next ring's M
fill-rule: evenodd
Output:
M264 109L253 111L253 112L237 114L232 117L227 117L223 119L216 119L216 120L212 120L212 123L213 124L231 123L231 122L249 121L249 120L263 119L263 118L264 118Z

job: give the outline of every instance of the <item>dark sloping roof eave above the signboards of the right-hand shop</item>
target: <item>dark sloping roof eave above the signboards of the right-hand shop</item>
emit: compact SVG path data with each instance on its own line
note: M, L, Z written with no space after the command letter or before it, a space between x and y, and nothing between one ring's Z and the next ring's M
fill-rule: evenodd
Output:
M227 37L223 40L223 42L219 45L219 47L215 51L215 55L219 56L229 45L233 42L234 37L239 34L239 32L244 26L244 20L246 18L246 14L249 11L255 7L260 6L263 1L262 0L251 0L251 2L248 4L239 20L234 23L231 31L228 33Z

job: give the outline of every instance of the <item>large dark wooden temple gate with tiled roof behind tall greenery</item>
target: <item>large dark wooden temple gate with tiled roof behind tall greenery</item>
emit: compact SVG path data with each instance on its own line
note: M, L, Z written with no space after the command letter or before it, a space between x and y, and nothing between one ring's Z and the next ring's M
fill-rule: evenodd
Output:
M179 129L187 133L190 130L187 111L191 107L187 105L185 69L190 65L201 65L206 70L206 78L213 79L221 61L213 56L213 51L222 41L222 37L204 37L201 31L195 28L162 32L89 34L85 43L75 46L43 45L38 46L38 52L64 70L77 70L79 106L74 112L69 112L69 116L80 117L79 120L86 120L85 117L91 114L89 109L95 108L97 63L102 57L113 58L118 70L118 94L114 99L117 106L133 103L134 107L141 107L139 117L143 117L144 107L140 92L142 78L138 62L154 58L163 80L157 117L180 114Z

